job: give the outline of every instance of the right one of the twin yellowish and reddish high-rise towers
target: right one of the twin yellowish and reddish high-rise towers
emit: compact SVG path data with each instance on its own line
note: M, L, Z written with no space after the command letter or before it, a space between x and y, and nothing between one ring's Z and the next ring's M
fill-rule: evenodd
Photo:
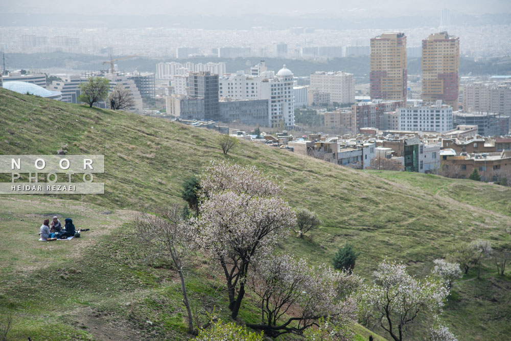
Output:
M458 109L459 38L447 32L430 34L422 41L422 99L442 100Z

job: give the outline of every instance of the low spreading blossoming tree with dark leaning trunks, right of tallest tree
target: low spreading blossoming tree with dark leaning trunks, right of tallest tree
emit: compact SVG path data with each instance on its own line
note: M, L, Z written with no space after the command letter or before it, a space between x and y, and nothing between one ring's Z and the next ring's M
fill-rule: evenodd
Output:
M320 319L343 327L353 323L356 304L347 295L359 283L358 277L324 264L309 266L287 254L265 255L252 265L248 286L256 295L261 323L247 326L276 337L301 335L309 327L319 327Z

